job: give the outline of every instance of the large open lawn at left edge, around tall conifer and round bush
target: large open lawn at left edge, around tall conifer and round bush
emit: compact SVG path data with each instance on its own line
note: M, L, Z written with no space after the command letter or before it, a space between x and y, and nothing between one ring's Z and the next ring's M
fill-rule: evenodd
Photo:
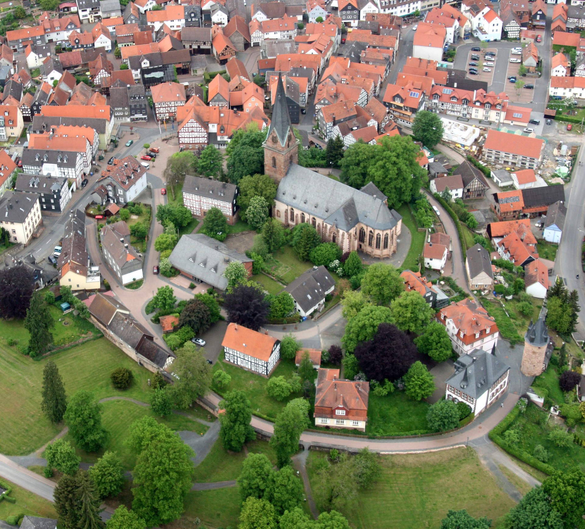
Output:
M150 371L138 366L105 338L51 356L59 367L68 396L78 389L96 398L123 395L147 402ZM15 348L0 343L0 395L10 395L10 406L0 406L0 453L26 455L50 441L63 428L51 424L40 409L43 368L46 360L34 361ZM126 391L112 387L109 375L116 367L128 367L134 382Z

